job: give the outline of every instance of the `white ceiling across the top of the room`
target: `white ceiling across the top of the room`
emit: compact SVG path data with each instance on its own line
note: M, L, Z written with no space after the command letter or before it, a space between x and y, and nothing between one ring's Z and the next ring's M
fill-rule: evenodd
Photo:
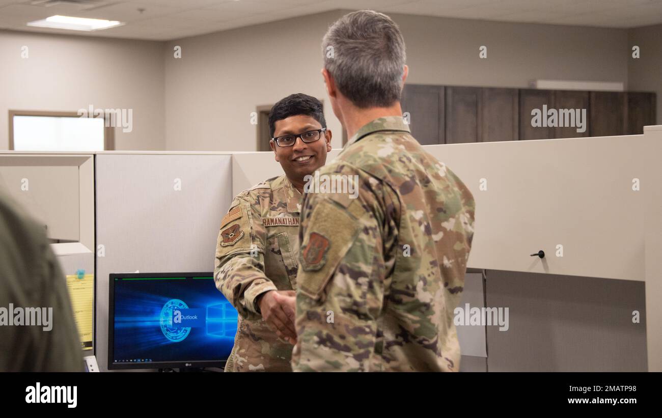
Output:
M608 28L662 23L662 0L0 0L0 29L172 40L336 9ZM97 32L25 25L52 15L126 24Z

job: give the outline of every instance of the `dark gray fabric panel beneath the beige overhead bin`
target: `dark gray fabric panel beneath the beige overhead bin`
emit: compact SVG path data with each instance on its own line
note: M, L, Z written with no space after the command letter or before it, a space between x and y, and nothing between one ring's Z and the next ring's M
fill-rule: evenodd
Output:
M487 327L489 371L645 371L644 287L630 280L488 270L487 306L509 310L508 331ZM639 323L633 323L633 311Z

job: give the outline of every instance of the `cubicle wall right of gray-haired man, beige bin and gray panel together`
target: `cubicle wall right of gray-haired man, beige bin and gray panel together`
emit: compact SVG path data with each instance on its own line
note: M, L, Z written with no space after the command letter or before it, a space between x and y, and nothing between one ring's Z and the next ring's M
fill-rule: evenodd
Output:
M487 370L661 370L662 126L426 148L471 189L468 267L509 311L508 331L487 327Z

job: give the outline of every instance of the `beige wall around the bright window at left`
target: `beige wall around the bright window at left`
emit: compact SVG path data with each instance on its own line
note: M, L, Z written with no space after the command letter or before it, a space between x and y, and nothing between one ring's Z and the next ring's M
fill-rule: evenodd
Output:
M21 48L28 47L28 58ZM164 149L163 42L0 30L0 149L8 110L132 109L115 149Z

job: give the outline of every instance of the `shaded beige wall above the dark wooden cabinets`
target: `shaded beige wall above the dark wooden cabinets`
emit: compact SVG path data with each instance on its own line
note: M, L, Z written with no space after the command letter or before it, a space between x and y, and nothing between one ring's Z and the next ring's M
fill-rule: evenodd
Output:
M528 87L531 79L628 83L623 29L391 15L410 83ZM480 46L487 58L479 58Z

